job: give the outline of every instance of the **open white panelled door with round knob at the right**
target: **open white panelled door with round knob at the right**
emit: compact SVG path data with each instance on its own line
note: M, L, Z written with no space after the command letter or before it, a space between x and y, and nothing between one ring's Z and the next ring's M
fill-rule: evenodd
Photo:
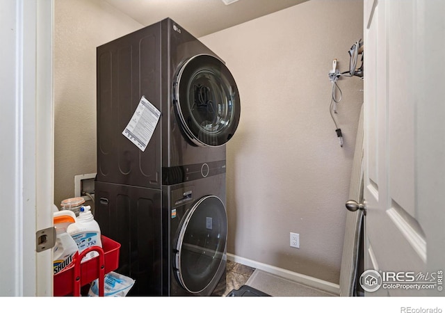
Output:
M366 296L445 296L444 16L364 1Z

